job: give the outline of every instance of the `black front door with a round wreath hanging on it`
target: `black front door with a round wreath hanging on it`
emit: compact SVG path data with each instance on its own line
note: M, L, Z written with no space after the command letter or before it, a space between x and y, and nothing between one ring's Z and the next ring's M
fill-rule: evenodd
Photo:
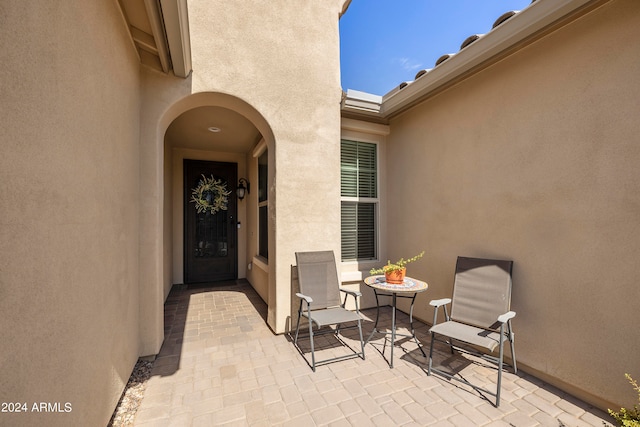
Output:
M235 163L184 161L185 283L238 276L237 176Z

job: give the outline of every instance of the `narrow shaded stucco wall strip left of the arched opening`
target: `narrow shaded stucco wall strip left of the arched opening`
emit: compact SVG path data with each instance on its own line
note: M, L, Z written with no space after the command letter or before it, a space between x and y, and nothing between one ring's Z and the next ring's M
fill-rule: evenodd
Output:
M171 290L172 162L164 134L181 112L172 106L190 94L191 79L141 69L140 94L140 250L138 323L141 356L157 354L164 339L164 301Z

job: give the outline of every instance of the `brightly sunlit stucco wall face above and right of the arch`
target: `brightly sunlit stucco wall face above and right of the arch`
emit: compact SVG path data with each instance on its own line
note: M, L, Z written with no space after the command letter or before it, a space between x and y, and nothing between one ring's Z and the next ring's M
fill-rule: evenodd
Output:
M268 303L269 324L277 332L288 321L295 251L340 251L343 3L189 2L193 91L233 94L273 130Z

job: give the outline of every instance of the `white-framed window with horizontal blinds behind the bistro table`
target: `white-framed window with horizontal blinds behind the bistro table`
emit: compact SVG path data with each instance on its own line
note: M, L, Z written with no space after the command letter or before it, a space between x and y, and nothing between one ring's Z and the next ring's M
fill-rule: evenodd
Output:
M342 261L377 258L377 145L342 140Z

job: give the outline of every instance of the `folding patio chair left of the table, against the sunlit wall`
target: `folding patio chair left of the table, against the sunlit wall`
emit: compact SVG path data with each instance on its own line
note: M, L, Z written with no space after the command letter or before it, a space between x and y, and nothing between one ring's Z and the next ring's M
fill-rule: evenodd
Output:
M358 291L351 291L340 287L333 251L296 252L296 261L298 264L298 282L300 284L300 292L296 293L296 295L300 298L300 307L298 308L298 322L296 324L294 344L298 346L300 318L306 317L309 321L311 368L314 372L316 370L316 366L319 364L326 364L353 357L361 357L364 360L362 321L360 311L358 309L358 297L362 294ZM341 291L346 294L344 303L340 298ZM355 300L355 311L347 310L345 308L346 300L349 295L353 296ZM303 303L306 303L304 309ZM319 333L334 333L336 337L338 337L341 325L345 323L355 323L355 325L351 325L343 329L358 328L361 351L359 353L355 352L355 350L346 345L344 341L340 340L354 352L344 356L316 362L313 341L314 335L318 335ZM314 324L318 328L316 332L313 330ZM320 331L321 328L332 325L336 325L336 328L328 328ZM300 352L302 353L302 351Z

